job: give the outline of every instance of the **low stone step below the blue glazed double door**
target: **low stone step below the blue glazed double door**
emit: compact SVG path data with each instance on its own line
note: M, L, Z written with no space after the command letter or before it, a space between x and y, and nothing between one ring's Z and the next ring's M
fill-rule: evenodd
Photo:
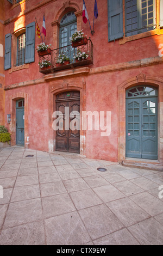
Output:
M126 167L142 168L148 170L157 170L158 172L163 172L163 166L158 161L136 161L136 160L123 160L122 165Z

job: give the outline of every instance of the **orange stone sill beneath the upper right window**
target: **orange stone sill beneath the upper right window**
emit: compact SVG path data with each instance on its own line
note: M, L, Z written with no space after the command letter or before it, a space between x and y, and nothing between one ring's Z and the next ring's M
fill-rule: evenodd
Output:
M141 34L137 34L137 35L127 36L119 40L119 45L123 45L123 44L126 44L126 42L134 41L137 39L146 38L151 35L161 35L161 34L163 34L163 29L154 29L153 31L148 31Z

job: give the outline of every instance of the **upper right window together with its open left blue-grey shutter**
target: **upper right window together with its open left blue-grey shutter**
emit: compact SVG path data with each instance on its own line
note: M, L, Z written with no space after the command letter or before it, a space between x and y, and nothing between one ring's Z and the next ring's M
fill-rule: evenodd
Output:
M155 0L108 0L109 41L152 31L156 25L161 28L163 0L159 3L156 5ZM160 21L156 20L159 10Z

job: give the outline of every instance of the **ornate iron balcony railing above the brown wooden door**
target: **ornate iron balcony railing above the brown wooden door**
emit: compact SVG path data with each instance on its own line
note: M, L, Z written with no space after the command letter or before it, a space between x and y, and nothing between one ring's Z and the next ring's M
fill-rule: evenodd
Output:
M82 59L80 61L74 59L74 56L76 56L78 50L82 53L86 53L89 57L87 57L86 59ZM64 54L66 57L69 57L70 63L66 64L66 62L65 62L64 64L58 64L57 60L58 60L59 54ZM49 74L51 72L54 73L59 70L74 69L78 66L85 66L85 65L93 64L92 41L90 39L88 39L86 45L81 45L78 47L72 47L72 45L67 45L64 47L54 49L54 50L52 50L52 52L50 54L40 57L39 62L41 63L42 60L47 60L48 62L51 62L51 65L48 66L47 68L39 67L39 71L42 74Z

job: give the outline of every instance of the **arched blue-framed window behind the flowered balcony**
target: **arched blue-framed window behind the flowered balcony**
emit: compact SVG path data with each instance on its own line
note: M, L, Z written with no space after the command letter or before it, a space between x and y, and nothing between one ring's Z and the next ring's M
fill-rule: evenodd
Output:
M70 36L77 30L77 18L71 11L62 17L60 22L60 40L59 46L64 47L70 45Z

